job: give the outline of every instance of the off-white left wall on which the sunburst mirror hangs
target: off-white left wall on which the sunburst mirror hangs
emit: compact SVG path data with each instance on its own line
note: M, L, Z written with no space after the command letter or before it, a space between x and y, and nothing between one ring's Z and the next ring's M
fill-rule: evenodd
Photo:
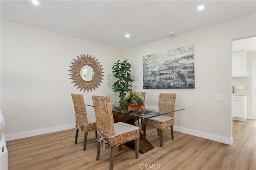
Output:
M81 54L92 55L102 64L104 80L93 92L77 90L68 76L70 62ZM74 127L70 94L84 94L87 103L92 103L92 95L114 98L111 68L123 57L123 50L1 20L6 140Z

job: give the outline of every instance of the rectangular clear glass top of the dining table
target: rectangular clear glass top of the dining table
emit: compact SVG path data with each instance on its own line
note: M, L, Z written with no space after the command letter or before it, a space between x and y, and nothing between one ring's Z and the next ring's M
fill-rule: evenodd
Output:
M142 107L130 107L130 106L124 106L119 102L112 103L111 106L112 106L112 111L115 111L118 113L124 113L127 115L133 115L133 116L141 117L144 119L148 119L151 117L156 117L159 115L164 115L167 113L185 109L185 108L178 108L178 107L158 106L158 105L152 105L152 104L144 104Z

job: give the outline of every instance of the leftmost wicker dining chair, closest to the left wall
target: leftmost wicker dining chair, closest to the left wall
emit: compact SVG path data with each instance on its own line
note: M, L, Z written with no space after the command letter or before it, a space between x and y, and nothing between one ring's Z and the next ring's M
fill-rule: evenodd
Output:
M96 131L96 118L87 115L82 94L71 94L76 115L75 144L78 143L78 133L84 132L84 150L86 150L88 132Z

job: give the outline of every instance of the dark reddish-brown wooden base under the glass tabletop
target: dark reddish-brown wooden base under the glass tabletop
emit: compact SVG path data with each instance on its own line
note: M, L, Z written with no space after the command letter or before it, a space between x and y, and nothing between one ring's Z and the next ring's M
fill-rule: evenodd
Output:
M135 125L134 122L136 122L139 117L132 116L132 115L126 115L124 113L118 113L113 111L113 117L114 117L114 123L117 122L124 122L131 125ZM131 149L135 150L135 143L134 141L129 141L125 143L126 147L129 147ZM154 146L146 139L146 137L143 136L143 134L140 132L140 138L139 138L139 152L144 154L151 149L154 149Z

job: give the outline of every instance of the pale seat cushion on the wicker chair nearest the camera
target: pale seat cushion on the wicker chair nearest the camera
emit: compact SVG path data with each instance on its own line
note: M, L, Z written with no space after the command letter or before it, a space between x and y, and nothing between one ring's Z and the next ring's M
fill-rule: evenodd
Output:
M115 127L115 135L116 136L123 135L128 132L140 130L139 127L130 125L130 124L124 123L124 122L114 123L114 127Z

